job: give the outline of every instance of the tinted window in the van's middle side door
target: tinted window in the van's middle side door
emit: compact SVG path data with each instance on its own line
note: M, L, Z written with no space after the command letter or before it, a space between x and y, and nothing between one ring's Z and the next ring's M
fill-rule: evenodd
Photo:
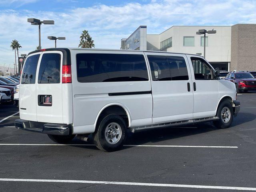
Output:
M154 81L188 80L185 59L176 56L148 56Z

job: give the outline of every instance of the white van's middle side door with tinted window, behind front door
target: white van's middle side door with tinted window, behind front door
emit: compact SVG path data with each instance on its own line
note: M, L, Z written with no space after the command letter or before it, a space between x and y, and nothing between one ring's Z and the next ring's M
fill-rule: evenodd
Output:
M152 74L153 123L193 117L194 96L183 54L146 52Z

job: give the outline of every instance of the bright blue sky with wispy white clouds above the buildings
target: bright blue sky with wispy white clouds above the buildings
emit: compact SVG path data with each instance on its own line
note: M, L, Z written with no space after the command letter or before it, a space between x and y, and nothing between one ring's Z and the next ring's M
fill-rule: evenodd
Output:
M173 25L256 23L256 0L0 0L0 66L14 62L10 42L27 54L38 46L38 28L27 18L55 20L42 25L42 48L54 46L47 36L65 36L59 47L77 47L88 30L96 48L120 48L138 26L159 34Z

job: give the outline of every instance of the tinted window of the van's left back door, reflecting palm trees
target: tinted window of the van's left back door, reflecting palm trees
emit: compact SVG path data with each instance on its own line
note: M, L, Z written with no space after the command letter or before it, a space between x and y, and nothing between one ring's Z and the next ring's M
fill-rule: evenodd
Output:
M35 84L36 83L36 68L40 54L30 56L26 59L24 68L22 70L21 84Z

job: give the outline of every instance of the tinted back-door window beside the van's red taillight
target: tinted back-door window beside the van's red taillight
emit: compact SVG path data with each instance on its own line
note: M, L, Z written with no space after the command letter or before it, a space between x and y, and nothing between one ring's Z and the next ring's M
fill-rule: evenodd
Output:
M38 72L38 83L60 83L60 54L45 53Z

